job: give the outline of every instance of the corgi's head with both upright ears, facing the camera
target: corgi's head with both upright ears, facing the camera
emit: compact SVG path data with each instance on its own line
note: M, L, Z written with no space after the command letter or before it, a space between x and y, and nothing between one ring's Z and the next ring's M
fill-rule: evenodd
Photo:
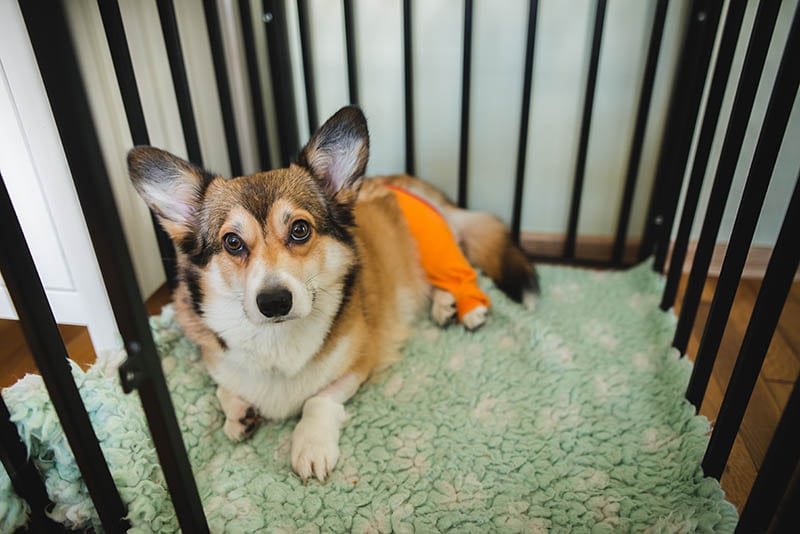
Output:
M151 147L131 150L128 166L179 251L195 311L229 330L337 312L354 276L353 207L368 153L366 119L346 107L286 169L225 180Z

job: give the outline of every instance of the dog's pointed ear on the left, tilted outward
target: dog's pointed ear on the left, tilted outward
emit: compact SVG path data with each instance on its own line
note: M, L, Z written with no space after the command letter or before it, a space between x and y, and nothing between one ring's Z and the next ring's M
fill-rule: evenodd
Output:
M203 194L214 175L149 146L128 152L128 173L136 191L173 240L178 242L194 231Z

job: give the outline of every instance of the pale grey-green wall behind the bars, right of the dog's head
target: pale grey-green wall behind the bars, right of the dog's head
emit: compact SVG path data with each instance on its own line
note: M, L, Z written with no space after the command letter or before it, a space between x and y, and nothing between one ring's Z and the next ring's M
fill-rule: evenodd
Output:
M289 2L293 4L293 2ZM780 51L797 1L784 2L764 80L754 106L731 200L720 231L728 239L747 167L763 119ZM473 14L469 205L511 217L521 109L528 2L476 0ZM564 233L588 69L595 2L541 0L534 54L533 91L522 230ZM652 179L689 2L670 3L659 59L630 237L644 226ZM710 171L716 166L756 3L748 4L743 39L722 109ZM361 105L370 120L373 174L402 171L405 154L400 0L356 2ZM655 2L610 0L601 45L587 155L579 233L613 235L627 170L641 77ZM347 103L346 56L340 2L311 2L317 104L321 120ZM720 22L722 25L724 21ZM417 172L451 197L457 192L463 2L417 0L413 50ZM299 70L299 63L296 63ZM302 88L298 88L299 91ZM299 93L302 94L302 93ZM774 243L800 166L800 115L795 106L754 243ZM691 161L690 161L691 165ZM690 167L687 167L690 168ZM710 173L711 174L711 173ZM707 177L699 213L713 174ZM693 237L699 233L698 219Z

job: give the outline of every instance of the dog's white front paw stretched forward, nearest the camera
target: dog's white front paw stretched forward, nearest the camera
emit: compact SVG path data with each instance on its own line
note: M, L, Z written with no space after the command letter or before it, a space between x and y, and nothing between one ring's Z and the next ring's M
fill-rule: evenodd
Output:
M292 432L292 468L305 482L320 482L339 460L339 427L346 419L344 406L326 397L312 397Z

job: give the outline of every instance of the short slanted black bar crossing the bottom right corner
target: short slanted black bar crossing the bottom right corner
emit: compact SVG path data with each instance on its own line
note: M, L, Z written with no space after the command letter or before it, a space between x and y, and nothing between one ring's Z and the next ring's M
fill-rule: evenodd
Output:
M800 462L800 380L796 381L739 517L737 532L766 532ZM795 524L795 526L797 526Z

